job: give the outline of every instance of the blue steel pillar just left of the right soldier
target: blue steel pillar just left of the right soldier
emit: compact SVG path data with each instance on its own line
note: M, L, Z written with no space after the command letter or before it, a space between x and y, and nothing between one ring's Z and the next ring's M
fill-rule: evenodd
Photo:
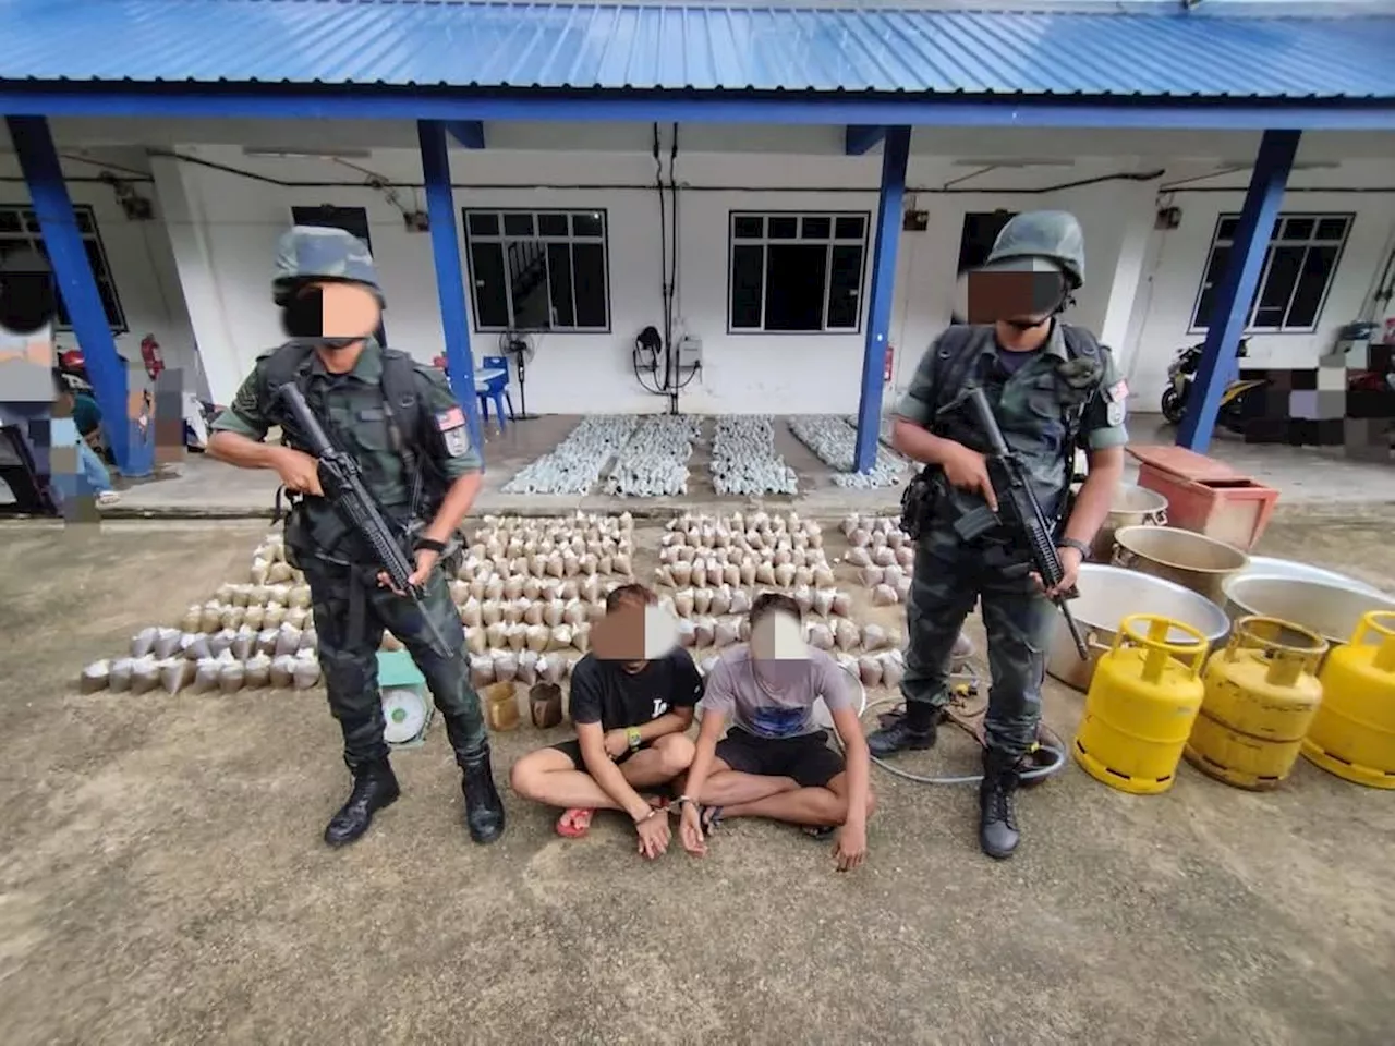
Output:
M876 243L872 248L872 300L868 304L868 342L862 353L862 397L858 400L858 449L852 470L865 473L876 464L882 435L882 370L886 365L887 328L891 324L891 289L896 285L896 244L901 236L901 199L905 197L905 162L911 155L911 128L886 128L882 145L882 197L876 208Z

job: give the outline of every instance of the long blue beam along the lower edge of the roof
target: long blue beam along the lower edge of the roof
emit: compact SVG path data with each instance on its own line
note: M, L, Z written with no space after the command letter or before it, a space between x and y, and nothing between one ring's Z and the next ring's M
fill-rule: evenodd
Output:
M1395 130L1395 98L1215 99L851 92L462 91L388 85L0 81L0 112L60 117Z

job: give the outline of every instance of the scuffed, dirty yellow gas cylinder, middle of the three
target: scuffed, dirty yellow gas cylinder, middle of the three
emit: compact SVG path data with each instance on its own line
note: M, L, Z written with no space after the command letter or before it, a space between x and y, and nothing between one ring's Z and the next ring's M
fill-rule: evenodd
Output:
M1207 696L1186 756L1237 788L1278 788L1322 703L1317 667L1327 640L1278 618L1242 618L1207 664Z

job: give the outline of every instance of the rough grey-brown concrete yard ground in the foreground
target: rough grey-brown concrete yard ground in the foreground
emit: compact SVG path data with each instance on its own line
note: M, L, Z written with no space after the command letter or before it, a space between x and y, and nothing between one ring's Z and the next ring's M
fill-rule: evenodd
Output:
M649 865L505 796L460 824L439 727L345 852L322 692L75 692L81 665L241 580L265 524L0 527L0 1042L1109 1043L1395 1040L1395 795L1300 760L1257 795L1183 767L1154 798L1074 766L1010 862L974 794L873 770L868 865L727 826ZM651 544L651 538L649 541ZM1306 517L1261 551L1395 586L1388 522ZM894 611L894 608L889 608ZM976 623L974 630L976 632ZM1081 696L1050 682L1070 736ZM502 768L565 735L499 735ZM956 731L904 766L972 766Z

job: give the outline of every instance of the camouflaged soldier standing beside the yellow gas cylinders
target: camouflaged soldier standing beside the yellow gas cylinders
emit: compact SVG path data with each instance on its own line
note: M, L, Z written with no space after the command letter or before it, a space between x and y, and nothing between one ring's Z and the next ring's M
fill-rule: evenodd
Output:
M1018 842L1013 792L1020 763L1036 741L1057 611L1034 576L1004 562L1021 559L1021 549L1004 547L1006 536L990 531L964 543L953 527L985 501L996 508L982 453L988 442L965 396L975 385L983 388L1004 439L1030 471L1043 513L1064 524L1056 544L1066 575L1057 589L1066 591L1123 473L1127 388L1108 349L1056 318L1085 279L1084 241L1073 215L1018 215L1003 227L982 272L996 287L990 296L996 322L940 335L896 407L896 448L926 463L932 492L918 516L907 602L905 713L868 743L877 756L935 743L949 700L950 653L965 615L981 600L993 685L979 842L989 856L1006 858ZM1089 474L1070 508L1077 445L1087 452Z

